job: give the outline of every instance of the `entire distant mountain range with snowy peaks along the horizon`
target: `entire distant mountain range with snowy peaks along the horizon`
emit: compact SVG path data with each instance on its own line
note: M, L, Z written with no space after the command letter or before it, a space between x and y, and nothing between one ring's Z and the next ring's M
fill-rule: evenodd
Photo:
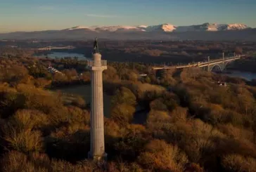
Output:
M243 24L203 23L175 26L171 24L139 26L76 26L68 29L0 34L0 39L197 39L256 40L256 29Z

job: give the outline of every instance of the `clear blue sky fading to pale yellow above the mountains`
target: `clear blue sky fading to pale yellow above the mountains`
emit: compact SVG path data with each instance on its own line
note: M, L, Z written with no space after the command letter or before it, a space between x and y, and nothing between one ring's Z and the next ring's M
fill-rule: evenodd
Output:
M102 25L243 23L256 0L0 0L0 33Z

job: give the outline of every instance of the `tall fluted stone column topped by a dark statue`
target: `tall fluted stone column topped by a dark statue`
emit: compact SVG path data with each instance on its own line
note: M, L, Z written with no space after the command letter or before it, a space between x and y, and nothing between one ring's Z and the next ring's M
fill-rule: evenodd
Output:
M107 69L107 61L101 60L98 44L94 42L93 60L89 61L91 70L91 150L89 159L105 159L104 116L103 116L103 79L102 72Z

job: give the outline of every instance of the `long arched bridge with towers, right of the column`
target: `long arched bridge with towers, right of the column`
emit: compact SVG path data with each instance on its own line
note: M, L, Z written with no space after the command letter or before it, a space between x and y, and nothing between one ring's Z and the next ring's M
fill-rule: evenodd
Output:
M207 62L196 62L193 64L188 63L187 65L174 65L174 66L161 66L161 67L152 67L153 70L172 70L172 69L183 69L188 67L203 67L206 68L207 71L212 71L213 68L217 67L217 70L223 71L230 62L234 60L238 60L240 58L244 58L245 55L234 55L231 58L225 58L224 53L221 59L210 60L208 57Z

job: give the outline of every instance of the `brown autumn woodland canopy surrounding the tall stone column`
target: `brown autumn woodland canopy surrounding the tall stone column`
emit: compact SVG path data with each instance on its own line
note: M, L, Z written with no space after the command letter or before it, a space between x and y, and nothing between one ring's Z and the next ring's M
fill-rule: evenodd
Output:
M256 87L243 79L193 68L158 78L147 65L110 62L108 161L96 164L89 102L52 89L89 84L89 71L58 60L63 74L50 74L47 62L0 59L1 171L255 171Z

